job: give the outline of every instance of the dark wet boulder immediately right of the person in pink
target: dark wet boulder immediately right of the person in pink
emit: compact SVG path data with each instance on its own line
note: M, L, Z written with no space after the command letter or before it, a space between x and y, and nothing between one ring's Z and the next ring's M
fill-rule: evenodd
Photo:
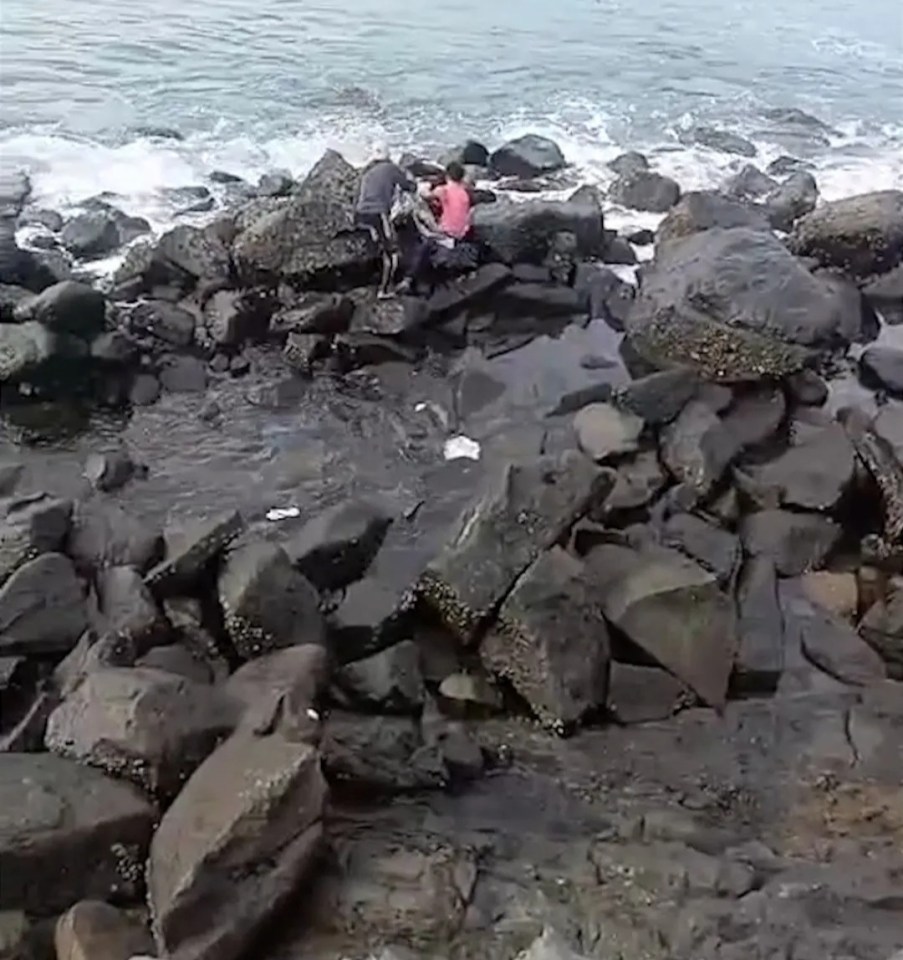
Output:
M541 263L558 233L573 234L579 257L601 256L605 247L602 208L594 193L482 205L474 211L473 226L475 238L505 263Z

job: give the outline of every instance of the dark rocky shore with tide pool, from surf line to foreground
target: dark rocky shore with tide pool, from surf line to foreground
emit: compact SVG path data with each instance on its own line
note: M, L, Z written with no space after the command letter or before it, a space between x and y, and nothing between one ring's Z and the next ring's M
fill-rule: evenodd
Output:
M900 960L903 193L457 155L387 302L337 154L0 179L3 958Z

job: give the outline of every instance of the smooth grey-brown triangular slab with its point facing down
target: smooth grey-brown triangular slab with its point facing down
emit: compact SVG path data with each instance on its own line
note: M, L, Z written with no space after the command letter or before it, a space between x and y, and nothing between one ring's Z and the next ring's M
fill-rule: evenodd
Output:
M603 544L586 558L606 619L710 706L734 664L733 610L715 576L673 550Z

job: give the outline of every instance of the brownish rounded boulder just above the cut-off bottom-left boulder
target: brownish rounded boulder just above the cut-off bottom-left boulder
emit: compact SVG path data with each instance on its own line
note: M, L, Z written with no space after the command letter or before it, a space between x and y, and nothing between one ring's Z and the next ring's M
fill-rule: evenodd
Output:
M90 671L54 710L47 748L172 800L235 726L212 687L150 667Z

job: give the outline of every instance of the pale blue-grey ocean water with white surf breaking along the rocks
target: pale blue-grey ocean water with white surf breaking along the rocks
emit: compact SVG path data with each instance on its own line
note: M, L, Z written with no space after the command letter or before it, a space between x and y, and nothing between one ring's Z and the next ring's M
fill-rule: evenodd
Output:
M715 185L746 161L683 142L708 124L762 166L805 156L829 198L903 187L900 0L2 0L0 85L0 158L40 204L109 191L157 228L166 189L214 169L300 175L327 147L360 161L377 140L526 131L592 182L634 148Z

